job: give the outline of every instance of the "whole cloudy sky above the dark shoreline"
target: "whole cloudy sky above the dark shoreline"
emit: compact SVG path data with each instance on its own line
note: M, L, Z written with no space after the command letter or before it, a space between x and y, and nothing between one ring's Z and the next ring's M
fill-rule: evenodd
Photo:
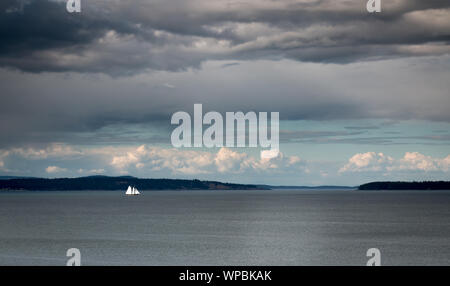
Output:
M450 2L0 2L0 176L274 185L450 178ZM280 153L171 116L279 112Z

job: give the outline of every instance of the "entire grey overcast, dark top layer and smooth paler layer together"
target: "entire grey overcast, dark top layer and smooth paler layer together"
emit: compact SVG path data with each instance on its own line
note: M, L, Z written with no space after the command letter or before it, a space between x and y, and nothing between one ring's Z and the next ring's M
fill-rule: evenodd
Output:
M170 116L194 103L289 120L450 122L450 2L383 1L373 15L365 3L97 0L69 14L65 1L1 1L0 148L166 143ZM372 61L411 55L431 57ZM158 132L127 131L140 124ZM350 124L342 136L369 129Z

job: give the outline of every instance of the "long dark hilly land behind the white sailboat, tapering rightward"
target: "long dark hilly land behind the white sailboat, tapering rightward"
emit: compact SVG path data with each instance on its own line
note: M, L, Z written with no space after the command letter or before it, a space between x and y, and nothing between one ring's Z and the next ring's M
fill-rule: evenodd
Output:
M139 179L131 176L90 176L81 178L12 178L0 180L0 190L126 190L136 186L139 190L258 190L256 185L230 184L215 181Z

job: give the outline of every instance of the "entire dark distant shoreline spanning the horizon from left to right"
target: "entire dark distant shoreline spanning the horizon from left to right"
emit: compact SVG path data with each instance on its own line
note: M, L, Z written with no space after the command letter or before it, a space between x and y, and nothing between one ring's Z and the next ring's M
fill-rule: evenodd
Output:
M79 178L0 177L0 191L124 191L128 186L144 191L194 190L450 190L449 181L371 182L354 186L272 186L182 179L141 179L132 176Z

